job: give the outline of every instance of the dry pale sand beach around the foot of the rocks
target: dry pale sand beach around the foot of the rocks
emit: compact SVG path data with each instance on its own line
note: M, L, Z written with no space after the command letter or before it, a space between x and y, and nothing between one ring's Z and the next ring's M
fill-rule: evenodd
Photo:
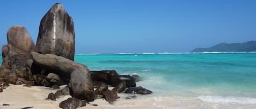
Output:
M62 86L61 88L63 88ZM62 96L56 101L46 100L49 93L55 93L57 89L51 89L49 87L23 87L23 85L10 85L0 93L0 108L23 108L31 107L33 108L59 108L59 103L66 100L70 95ZM118 99L113 105L105 101L105 99L97 99L90 102L85 107L80 108L159 108L154 106L153 100L145 99L132 99L126 100ZM9 104L9 106L2 106L3 104ZM98 106L92 106L92 104L97 104Z

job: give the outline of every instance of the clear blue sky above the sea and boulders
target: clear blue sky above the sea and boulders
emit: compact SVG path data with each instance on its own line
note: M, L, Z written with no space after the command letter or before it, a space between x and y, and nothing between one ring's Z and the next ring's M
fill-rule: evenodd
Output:
M41 18L57 2L73 17L75 53L189 52L256 40L254 0L0 1L0 45L23 25L37 40Z

